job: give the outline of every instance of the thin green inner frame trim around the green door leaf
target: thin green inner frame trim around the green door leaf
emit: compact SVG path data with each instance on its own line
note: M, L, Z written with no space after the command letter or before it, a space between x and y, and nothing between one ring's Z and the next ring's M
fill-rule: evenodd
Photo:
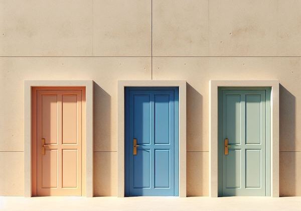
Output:
M265 196L270 196L270 96L271 87L218 87L218 140L222 139L222 91L223 90L264 90L265 91L265 109L266 109L266 134L265 134ZM223 146L218 146L218 196L222 196L222 153Z

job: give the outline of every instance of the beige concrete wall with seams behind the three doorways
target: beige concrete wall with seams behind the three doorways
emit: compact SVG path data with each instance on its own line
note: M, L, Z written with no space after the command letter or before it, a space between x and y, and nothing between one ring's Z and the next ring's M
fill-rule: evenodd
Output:
M24 80L92 79L94 192L116 195L117 80L187 80L187 193L208 195L209 80L280 81L280 195L301 195L301 2L0 0L0 195L23 195Z

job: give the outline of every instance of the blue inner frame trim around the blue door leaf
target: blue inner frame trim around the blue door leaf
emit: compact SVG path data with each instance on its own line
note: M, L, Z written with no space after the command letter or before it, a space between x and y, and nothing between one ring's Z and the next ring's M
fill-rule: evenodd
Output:
M124 131L124 177L125 177L125 196L134 196L134 195L153 195L153 194L137 194L137 192L132 193L131 188L130 188L130 171L129 171L129 165L130 165L130 156L131 155L131 144L130 141L130 93L131 92L143 92L143 91L162 91L162 92L167 92L167 91L172 91L174 95L174 190L171 194L171 191L164 192L156 192L156 195L173 195L173 196L179 196L179 87L125 87L124 89L124 95L125 95L125 101L124 101L124 108L125 108L125 131ZM171 155L170 155L171 156ZM154 188L156 189L156 187ZM162 188L164 189L164 188Z

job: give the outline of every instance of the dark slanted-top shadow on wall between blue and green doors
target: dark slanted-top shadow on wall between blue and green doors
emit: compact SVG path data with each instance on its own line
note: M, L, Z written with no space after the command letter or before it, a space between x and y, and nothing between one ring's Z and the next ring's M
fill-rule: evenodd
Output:
M208 195L202 147L203 96L187 83L187 196Z

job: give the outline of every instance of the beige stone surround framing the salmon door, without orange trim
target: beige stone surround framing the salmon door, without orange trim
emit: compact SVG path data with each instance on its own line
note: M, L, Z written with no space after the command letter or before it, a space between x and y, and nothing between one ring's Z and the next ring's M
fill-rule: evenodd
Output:
M84 195L93 196L93 81L25 80L24 81L24 196L32 196L32 87L84 86L86 88L86 176Z

